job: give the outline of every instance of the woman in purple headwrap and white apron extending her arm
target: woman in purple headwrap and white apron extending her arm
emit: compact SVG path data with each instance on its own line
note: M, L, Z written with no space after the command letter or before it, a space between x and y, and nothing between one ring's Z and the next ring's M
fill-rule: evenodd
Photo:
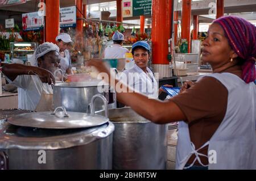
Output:
M202 60L213 74L185 83L170 100L133 92L110 77L101 60L88 65L108 73L112 86L122 84L128 91L118 92L118 101L143 117L157 124L179 121L176 169L256 169L255 57L256 27L225 16L210 25L203 42Z

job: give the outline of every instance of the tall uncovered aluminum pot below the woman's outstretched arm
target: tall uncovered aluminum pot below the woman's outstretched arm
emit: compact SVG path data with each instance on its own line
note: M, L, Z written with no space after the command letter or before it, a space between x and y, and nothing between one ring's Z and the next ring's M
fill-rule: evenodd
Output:
M130 107L110 109L109 120L115 126L113 169L166 169L167 125L154 124Z

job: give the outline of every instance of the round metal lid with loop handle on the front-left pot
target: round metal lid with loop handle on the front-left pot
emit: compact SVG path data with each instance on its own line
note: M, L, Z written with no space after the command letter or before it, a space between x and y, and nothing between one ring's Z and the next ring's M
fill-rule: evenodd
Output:
M105 124L107 117L81 112L66 112L58 107L54 112L22 113L7 119L10 124L47 129L90 128Z

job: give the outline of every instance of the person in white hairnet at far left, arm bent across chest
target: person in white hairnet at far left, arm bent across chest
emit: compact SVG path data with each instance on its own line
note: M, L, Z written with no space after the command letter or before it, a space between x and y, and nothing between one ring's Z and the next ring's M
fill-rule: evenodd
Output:
M59 47L43 43L36 48L32 66L9 64L2 68L7 81L18 87L18 108L35 111L43 93L53 94L53 72L59 68Z

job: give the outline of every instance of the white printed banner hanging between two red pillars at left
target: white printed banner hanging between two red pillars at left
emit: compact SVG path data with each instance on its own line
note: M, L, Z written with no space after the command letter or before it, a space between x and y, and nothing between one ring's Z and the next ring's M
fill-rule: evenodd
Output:
M76 27L76 6L60 9L60 27Z

